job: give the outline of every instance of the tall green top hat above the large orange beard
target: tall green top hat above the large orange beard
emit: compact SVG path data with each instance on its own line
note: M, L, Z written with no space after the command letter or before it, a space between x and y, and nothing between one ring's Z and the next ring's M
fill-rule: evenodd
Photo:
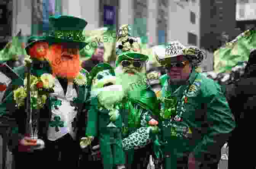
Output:
M79 45L79 49L85 47L85 36L83 29L87 22L83 19L73 16L51 16L49 23L52 31L46 36L46 40L51 43L73 42Z

